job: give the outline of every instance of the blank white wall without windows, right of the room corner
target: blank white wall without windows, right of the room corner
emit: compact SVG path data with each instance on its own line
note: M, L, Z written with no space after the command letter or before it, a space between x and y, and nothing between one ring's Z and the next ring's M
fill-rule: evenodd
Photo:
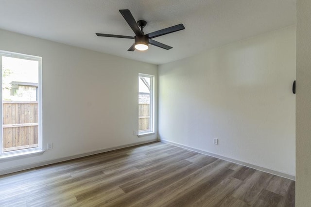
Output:
M158 75L160 139L295 175L295 26L159 65Z

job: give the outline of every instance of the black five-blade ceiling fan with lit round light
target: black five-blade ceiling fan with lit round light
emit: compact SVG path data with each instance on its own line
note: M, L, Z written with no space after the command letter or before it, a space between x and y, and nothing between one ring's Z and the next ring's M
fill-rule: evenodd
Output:
M149 34L144 34L144 32L142 31L142 28L146 26L147 24L146 21L138 20L136 23L130 10L121 9L119 11L121 15L124 17L125 21L128 23L128 25L132 28L133 32L135 33L135 36L132 37L132 36L123 36L123 35L116 35L116 34L102 34L102 33L96 33L96 35L100 37L118 37L118 38L134 39L135 43L127 51L134 51L135 49L146 50L148 49L148 44L154 45L154 46L157 46L163 49L172 49L171 46L157 42L153 40L153 38L185 29L183 24L177 24L175 26L168 27L168 28L158 30L155 32L151 32Z

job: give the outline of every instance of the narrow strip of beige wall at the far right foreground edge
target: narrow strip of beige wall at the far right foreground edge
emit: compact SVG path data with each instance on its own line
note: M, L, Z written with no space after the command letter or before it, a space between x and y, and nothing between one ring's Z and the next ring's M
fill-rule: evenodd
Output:
M297 0L296 207L311 205L310 11L310 0Z

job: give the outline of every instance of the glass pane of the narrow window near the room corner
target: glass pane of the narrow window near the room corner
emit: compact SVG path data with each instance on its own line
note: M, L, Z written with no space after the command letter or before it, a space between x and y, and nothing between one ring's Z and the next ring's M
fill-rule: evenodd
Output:
M138 93L138 131L150 131L151 78L139 76Z

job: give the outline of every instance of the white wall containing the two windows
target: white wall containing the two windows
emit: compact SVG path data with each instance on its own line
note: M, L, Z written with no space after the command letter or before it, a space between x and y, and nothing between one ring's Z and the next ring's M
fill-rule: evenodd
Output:
M133 135L138 73L157 77L156 65L3 30L0 50L42 57L43 147L53 143L42 156L0 162L0 171L157 138Z

